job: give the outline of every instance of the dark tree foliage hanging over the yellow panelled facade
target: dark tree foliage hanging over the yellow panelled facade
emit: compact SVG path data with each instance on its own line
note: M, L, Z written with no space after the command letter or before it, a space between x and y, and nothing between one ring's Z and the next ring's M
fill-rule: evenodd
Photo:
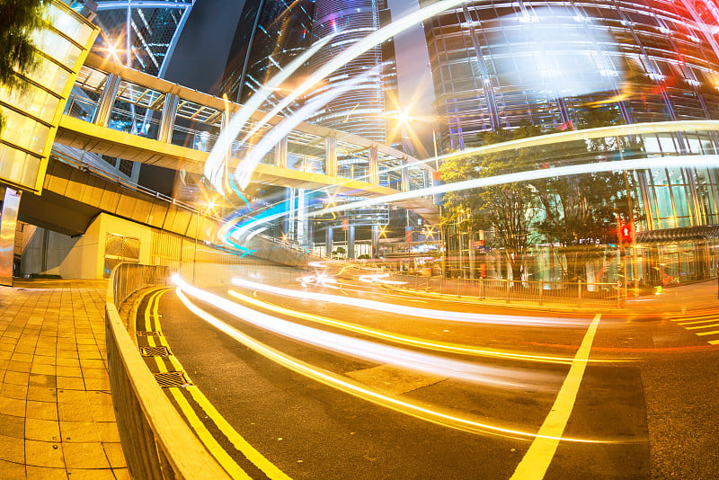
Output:
M20 76L38 65L32 31L42 26L49 0L0 0L0 85L22 88ZM0 131L4 121L0 118Z

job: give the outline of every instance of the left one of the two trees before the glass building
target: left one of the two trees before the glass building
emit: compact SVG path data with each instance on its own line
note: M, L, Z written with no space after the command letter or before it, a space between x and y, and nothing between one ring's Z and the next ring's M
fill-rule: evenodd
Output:
M540 135L538 127L523 124L512 132L499 129L482 135L482 142L493 144L513 138ZM534 167L537 149L522 148L448 160L439 169L445 182L518 172ZM519 280L524 272L524 257L530 244L530 226L537 206L534 187L528 182L505 183L476 191L449 192L444 197L449 221L465 219L471 212L476 225L493 229L496 245L510 264L512 278ZM461 222L457 222L461 223Z

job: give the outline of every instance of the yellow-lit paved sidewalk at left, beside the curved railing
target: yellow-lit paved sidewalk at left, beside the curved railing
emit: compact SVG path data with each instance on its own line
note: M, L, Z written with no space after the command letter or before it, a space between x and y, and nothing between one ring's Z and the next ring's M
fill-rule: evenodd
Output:
M129 479L112 410L104 280L0 287L0 478Z

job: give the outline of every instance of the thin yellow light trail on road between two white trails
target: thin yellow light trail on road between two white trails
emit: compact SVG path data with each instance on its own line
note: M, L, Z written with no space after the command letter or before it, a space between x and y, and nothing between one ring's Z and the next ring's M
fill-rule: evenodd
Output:
M341 320L335 320L333 318L329 318L326 316L317 316L317 315L307 314L304 312L298 312L297 310L293 310L291 308L280 307L278 305L274 305L269 302L263 302L262 300L259 300L257 298L248 297L248 296L243 295L235 290L228 290L228 293L232 297L235 297L238 300L241 300L245 303L249 303L251 305L254 305L255 307L261 307L261 308L270 310L272 312L275 312L275 313L278 313L281 315L294 316L296 318L301 318L303 320L308 320L310 322L314 322L317 324L324 324L327 326L341 328L342 330L348 330L348 331L354 332L354 333L361 333L363 335L368 335L370 337L378 338L381 340L386 340L388 342L400 343L403 345L419 347L422 349L428 349L428 350L434 350L434 351L448 351L451 353L461 353L464 355L473 355L473 356L477 356L477 357L490 357L490 358L498 358L498 359L505 359L505 360L526 360L526 361L537 361L537 362L543 362L543 363L562 363L562 364L569 364L569 363L572 363L572 361L573 361L573 358L571 358L571 357L555 357L555 356L550 356L550 355L530 355L528 353L516 353L516 352L512 352L512 351L481 349L481 348L477 348L477 347L474 347L471 345L459 345L457 343L431 342L428 340L411 337L408 335L401 335L398 333L390 333L390 332L386 332L384 330L378 330L376 328L369 328L369 327L362 326L359 324L351 324L349 322L342 322ZM615 361L622 361L622 360L588 360L588 361L615 362Z

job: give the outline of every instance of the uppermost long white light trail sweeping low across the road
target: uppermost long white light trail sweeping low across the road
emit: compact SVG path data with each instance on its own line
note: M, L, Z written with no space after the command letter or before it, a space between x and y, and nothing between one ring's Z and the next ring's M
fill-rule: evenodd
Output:
M280 289L280 287L272 287L270 285L264 285L262 283L244 280L237 277L232 279L232 283L240 287L244 287L245 289L260 290L283 297L311 299L319 302L336 303L368 310L377 310L388 314L431 318L432 320L447 320L448 322L495 325L503 324L512 326L586 326L589 324L586 319L581 318L567 318L559 320L557 318L545 318L541 316L503 316L452 312L431 308L407 307L404 305L377 302L376 300L367 300L364 298L339 297L336 295L328 295L326 293L316 293L304 290Z

